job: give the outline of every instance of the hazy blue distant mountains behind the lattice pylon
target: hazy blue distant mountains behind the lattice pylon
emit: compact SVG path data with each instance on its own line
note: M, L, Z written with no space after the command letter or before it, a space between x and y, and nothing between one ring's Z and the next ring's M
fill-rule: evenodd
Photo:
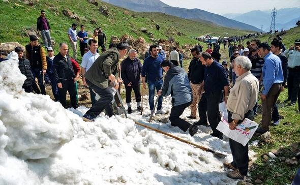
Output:
M261 28L268 32L272 21L273 10L254 10L243 14L223 14L224 17L234 19ZM275 29L290 29L300 20L300 8L284 8L277 10Z

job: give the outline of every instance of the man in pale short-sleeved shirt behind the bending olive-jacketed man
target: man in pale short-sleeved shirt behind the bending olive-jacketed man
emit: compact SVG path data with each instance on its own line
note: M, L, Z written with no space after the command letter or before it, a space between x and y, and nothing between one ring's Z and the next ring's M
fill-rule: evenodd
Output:
M82 82L84 86L87 86L84 78L85 72L94 64L95 60L100 56L99 53L96 52L98 48L98 42L95 39L89 40L88 45L89 45L89 51L82 56L82 62L81 62ZM88 89L91 95L92 105L94 105L96 102L95 99L96 94L94 93L91 87L88 87Z

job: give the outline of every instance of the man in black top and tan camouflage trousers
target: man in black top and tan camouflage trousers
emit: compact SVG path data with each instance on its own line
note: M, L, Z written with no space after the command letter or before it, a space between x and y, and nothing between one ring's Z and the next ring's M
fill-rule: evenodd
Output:
M199 48L197 48L197 47L192 48L191 54L193 56L193 59L189 66L188 77L190 80L190 85L192 87L193 102L191 104L191 115L188 116L188 118L196 119L197 105L199 102L198 89L200 87L200 83L203 80L205 66L202 65L202 63L199 59L200 55L201 55Z

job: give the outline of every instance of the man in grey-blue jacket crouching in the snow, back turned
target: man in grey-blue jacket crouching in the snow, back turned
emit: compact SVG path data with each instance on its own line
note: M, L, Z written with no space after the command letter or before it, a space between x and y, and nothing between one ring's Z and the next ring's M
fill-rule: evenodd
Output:
M168 59L162 62L161 67L165 71L166 76L163 88L158 91L158 95L167 97L171 94L173 106L169 117L171 126L177 126L184 132L189 129L190 135L194 136L198 131L198 127L179 117L193 102L192 88L188 75L184 69L174 66Z

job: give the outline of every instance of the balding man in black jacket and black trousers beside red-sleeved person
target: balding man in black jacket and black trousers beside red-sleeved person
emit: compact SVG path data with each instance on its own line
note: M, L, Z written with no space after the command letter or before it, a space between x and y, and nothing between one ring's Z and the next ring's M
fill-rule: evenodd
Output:
M54 76L59 91L59 102L66 107L67 91L70 95L71 107L78 107L75 93L75 73L70 57L67 55L68 45L59 44L59 53L54 57Z

